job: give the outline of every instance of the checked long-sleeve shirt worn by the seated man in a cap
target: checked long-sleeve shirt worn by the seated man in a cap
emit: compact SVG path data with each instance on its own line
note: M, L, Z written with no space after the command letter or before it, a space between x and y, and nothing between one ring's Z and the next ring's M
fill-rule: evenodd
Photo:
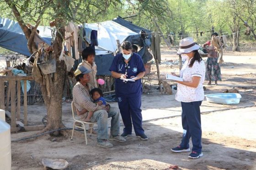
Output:
M73 102L75 104L75 108L79 111L82 109L86 109L87 112L84 113L86 116L88 112L94 112L96 110L102 109L97 103L93 103L93 99L90 96L91 86L87 84L87 86L83 86L80 82L77 82L73 88Z

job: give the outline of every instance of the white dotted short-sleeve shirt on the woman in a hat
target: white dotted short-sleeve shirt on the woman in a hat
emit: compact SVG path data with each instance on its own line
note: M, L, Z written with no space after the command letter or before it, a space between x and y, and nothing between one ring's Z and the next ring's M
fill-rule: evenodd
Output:
M179 102L196 102L203 101L204 92L203 92L203 82L205 77L205 65L203 60L201 62L195 61L192 67L189 67L191 59L188 59L181 71L180 77L183 78L183 81L192 81L192 77L201 77L200 82L197 88L191 88L183 84L178 83L176 100Z

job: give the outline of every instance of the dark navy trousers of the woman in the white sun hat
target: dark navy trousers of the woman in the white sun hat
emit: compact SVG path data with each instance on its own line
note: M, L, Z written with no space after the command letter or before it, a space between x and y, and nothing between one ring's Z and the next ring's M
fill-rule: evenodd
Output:
M189 103L181 102L183 136L180 146L186 149L189 148L189 139L191 137L193 144L192 151L197 153L202 151L201 103L202 101Z

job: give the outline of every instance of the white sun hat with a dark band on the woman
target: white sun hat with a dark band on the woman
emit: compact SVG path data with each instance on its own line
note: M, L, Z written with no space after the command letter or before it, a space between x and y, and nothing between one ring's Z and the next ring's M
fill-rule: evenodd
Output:
M184 38L180 41L180 47L177 52L178 55L183 53L189 53L194 50L198 50L200 46L198 46L194 41L192 37Z

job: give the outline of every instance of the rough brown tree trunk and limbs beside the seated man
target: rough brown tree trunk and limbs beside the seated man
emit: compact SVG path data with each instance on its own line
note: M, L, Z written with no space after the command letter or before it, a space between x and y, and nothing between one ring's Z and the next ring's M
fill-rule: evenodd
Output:
M12 3L9 0L5 0L5 2L11 7L19 25L21 26L22 31L24 32L28 43L27 47L30 53L36 52L36 44L33 41L33 37L35 35L37 26L39 25L41 21L41 16L38 16L36 26L30 30L25 22L23 21L20 12L16 8L16 4ZM48 124L45 129L43 129L41 132L53 130L53 129L59 129L63 128L64 125L62 124L62 94L63 94L63 88L64 88L64 82L66 79L66 66L64 64L64 61L59 61L59 55L61 53L62 49L62 42L64 40L65 35L65 12L63 9L66 8L66 6L69 6L69 0L63 0L62 3L59 3L56 5L56 11L57 15L55 17L55 23L56 24L56 36L53 42L53 53L52 58L56 60L56 72L44 75L45 79L47 79L50 83L50 86L46 86L46 82L40 83L40 88L43 95L43 100L47 108L47 116L48 116ZM50 95L48 96L47 92L50 92ZM39 132L39 133L41 133ZM64 133L62 133L64 134ZM59 131L54 132L53 135L59 135Z

